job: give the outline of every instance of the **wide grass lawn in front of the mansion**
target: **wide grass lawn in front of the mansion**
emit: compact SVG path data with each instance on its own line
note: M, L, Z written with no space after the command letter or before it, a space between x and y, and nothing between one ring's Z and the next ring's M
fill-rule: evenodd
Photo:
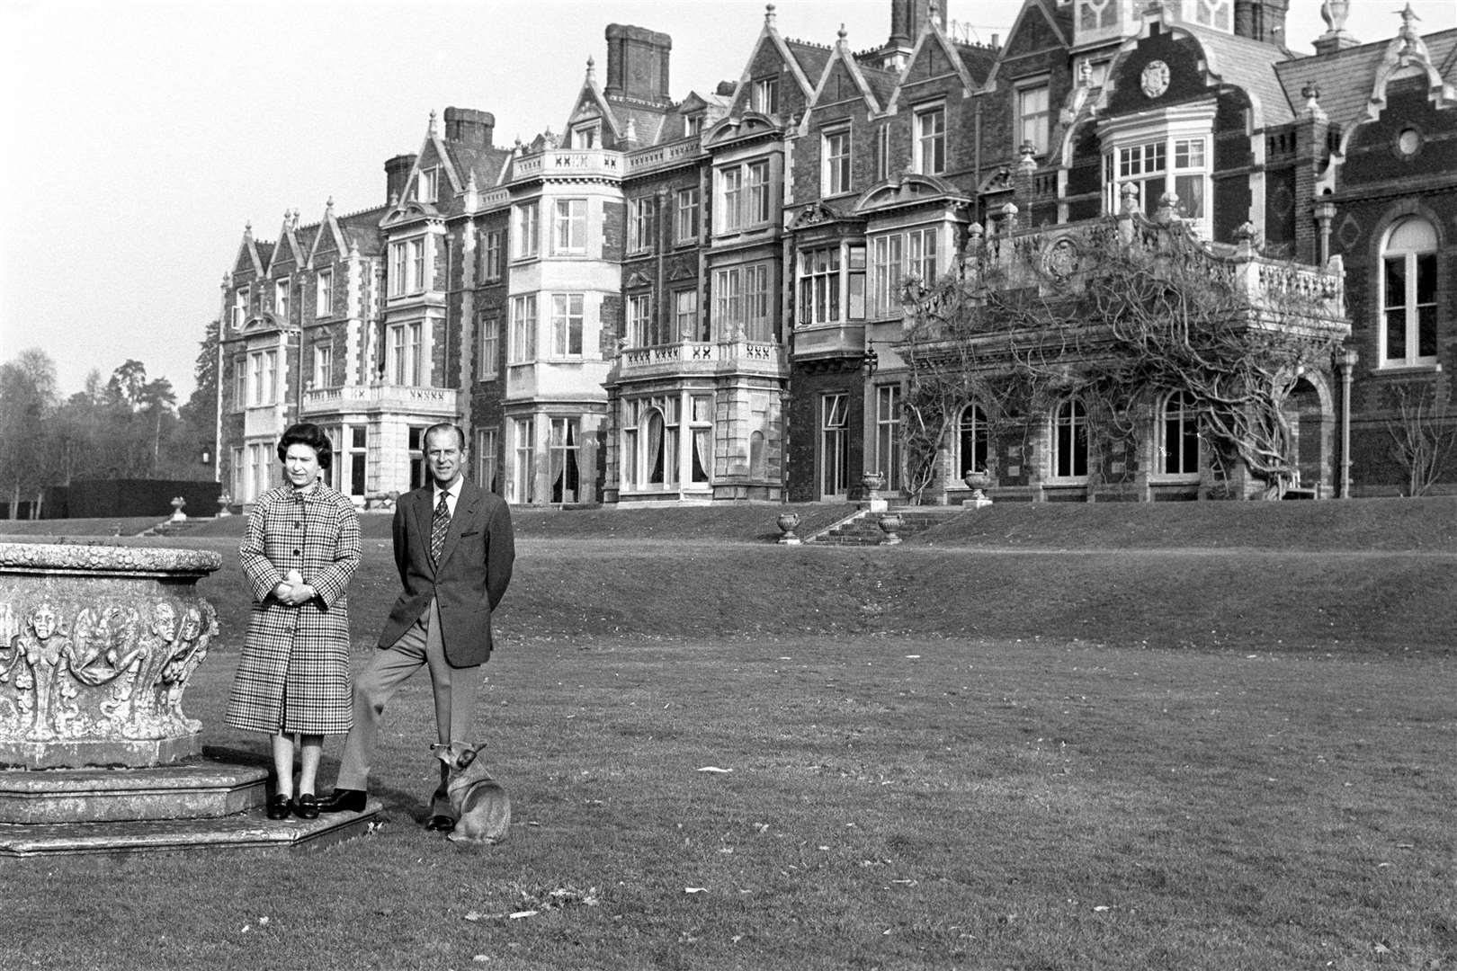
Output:
M478 718L506 844L418 825L421 677L376 833L3 863L6 967L1457 967L1454 508L998 505L896 549L522 514ZM261 756L223 725L236 539L179 543L227 563L188 710ZM360 662L393 584L374 534Z

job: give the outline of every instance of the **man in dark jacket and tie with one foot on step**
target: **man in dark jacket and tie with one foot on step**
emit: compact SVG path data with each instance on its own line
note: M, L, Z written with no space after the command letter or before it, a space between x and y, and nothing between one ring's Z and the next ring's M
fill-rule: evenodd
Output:
M479 665L491 657L491 613L511 582L516 543L511 514L492 492L466 482L465 432L440 424L425 429L425 461L433 482L395 507L395 566L404 591L379 635L379 649L354 681L354 728L332 795L319 812L360 812L379 721L405 678L430 668L440 744L471 742L471 719L481 687ZM455 828L446 796L447 767L430 801L425 828Z

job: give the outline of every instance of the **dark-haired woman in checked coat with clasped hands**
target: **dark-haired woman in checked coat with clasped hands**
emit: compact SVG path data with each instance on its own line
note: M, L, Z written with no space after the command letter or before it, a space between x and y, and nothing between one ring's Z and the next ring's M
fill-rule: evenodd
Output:
M272 735L277 783L268 818L313 820L323 737L344 734L353 724L344 588L360 563L360 520L348 496L319 482L334 459L322 428L291 425L278 441L278 459L287 485L258 498L239 547L254 609L227 724Z

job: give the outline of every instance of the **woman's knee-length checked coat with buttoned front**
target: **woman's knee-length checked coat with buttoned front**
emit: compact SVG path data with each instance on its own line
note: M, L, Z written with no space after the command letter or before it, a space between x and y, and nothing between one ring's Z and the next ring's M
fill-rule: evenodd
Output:
M284 485L258 499L237 550L252 594L227 724L256 732L347 732L353 721L350 617L344 595L360 563L360 520L322 482ZM272 590L297 569L318 597L299 607Z

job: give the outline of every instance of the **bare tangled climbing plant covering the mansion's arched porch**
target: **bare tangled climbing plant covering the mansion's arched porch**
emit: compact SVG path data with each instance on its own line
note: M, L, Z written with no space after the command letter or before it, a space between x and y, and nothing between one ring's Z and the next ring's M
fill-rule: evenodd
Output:
M1090 435L1116 443L1136 434L1141 403L1180 393L1217 467L1237 461L1281 496L1298 475L1287 399L1307 370L1329 371L1348 328L1314 275L1266 266L1247 245L1217 256L1177 220L1125 208L1055 239L994 236L957 275L909 281L908 488L931 483L969 402L1026 444L1029 416L1075 396Z

